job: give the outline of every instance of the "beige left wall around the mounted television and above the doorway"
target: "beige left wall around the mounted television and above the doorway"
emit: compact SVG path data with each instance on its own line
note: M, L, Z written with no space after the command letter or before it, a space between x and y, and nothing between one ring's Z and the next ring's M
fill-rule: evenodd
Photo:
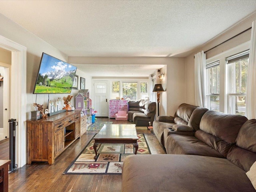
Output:
M36 95L32 94L34 90L34 85L37 78L37 73L40 65L40 59L42 56L42 52L45 52L47 54L50 54L56 58L59 58L60 60L67 61L68 57L48 44L47 42L43 41L42 39L38 38L34 34L28 32L18 24L12 22L2 14L0 14L0 35L4 36L18 44L21 44L22 46L25 46L27 48L27 84L21 85L22 88L27 89L26 94L26 114L27 119L30 119L31 114L30 112L32 110L35 110L35 108L32 106L34 102L37 102L39 104L44 104L44 106L47 106L48 102L48 95L47 94L38 94L37 100ZM80 76L83 75L82 71L78 70L78 74ZM72 90L72 95L77 92L77 90ZM50 100L55 100L58 97L63 98L63 96L66 96L65 94L50 94ZM73 101L74 102L74 101Z

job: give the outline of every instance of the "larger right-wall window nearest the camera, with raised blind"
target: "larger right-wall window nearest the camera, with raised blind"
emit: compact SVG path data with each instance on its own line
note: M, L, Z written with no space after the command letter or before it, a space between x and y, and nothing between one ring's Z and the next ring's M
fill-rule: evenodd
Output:
M226 58L230 114L245 115L248 61L249 50Z

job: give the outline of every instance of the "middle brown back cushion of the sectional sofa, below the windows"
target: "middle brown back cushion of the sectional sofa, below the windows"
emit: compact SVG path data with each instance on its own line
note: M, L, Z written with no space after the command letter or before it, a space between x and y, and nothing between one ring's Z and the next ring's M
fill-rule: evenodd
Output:
M209 110L202 116L200 130L232 144L235 143L240 128L247 120L245 116Z

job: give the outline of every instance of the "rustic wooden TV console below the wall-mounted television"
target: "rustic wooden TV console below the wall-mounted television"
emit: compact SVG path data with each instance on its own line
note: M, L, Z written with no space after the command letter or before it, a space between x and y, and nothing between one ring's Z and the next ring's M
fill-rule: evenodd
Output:
M26 122L27 164L46 161L52 165L56 157L80 138L80 111L66 111Z

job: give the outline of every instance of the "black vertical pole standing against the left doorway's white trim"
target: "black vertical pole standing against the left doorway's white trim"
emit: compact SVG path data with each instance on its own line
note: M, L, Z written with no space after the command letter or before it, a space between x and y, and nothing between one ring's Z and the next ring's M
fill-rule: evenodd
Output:
M10 160L11 163L9 165L9 171L14 170L14 168L16 168L16 164L15 164L15 146L16 146L16 135L15 135L15 131L16 131L16 119L9 119L9 155L10 155Z

